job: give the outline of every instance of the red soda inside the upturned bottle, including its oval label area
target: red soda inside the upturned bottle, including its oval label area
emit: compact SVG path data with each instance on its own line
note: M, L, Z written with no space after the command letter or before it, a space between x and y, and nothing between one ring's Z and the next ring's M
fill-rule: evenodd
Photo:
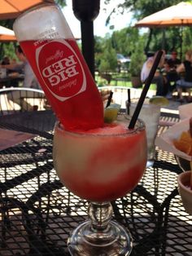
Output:
M23 41L20 46L66 130L103 126L103 102L75 39Z

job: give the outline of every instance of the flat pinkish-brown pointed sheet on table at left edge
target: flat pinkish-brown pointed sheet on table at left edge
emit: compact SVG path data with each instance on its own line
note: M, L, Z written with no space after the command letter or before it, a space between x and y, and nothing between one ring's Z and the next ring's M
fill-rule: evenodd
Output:
M34 138L36 135L17 130L0 129L0 151L11 148L18 143Z

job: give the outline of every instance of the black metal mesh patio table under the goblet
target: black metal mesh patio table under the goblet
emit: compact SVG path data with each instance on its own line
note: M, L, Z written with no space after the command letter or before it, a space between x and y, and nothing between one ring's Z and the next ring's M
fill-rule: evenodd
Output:
M88 204L69 192L55 173L54 114L22 115L23 123L0 117L0 128L37 135L0 152L0 255L69 255L68 235L87 218ZM28 115L34 115L39 126L32 126ZM161 120L178 117L162 113ZM166 129L159 126L159 134ZM156 148L154 166L146 168L137 188L112 202L113 218L133 236L131 255L191 255L192 216L185 213L177 192L179 173L174 156Z

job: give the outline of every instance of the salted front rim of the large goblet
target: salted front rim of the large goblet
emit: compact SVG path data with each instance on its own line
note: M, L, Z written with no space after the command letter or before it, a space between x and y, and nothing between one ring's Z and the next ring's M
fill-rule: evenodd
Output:
M115 124L117 123L121 123L121 122L124 122L124 121L130 121L130 118L129 117L125 117L120 119L120 117L117 118L117 121L114 122ZM128 123L129 124L129 123ZM109 124L110 125L110 124ZM111 133L111 134L101 134L101 133L91 133L91 132L86 132L85 130L75 130L75 131L71 131L71 130L64 130L63 129L63 125L61 124L60 121L56 121L55 122L55 129L57 130L64 130L67 134L69 135L86 135L86 136L89 136L89 137L124 137L125 135L135 135L137 134L138 132L141 132L142 130L146 130L146 125L145 125L145 122L142 121L142 119L138 118L137 119L137 122L136 122L136 126L133 130L129 130L128 126L126 127L127 130L125 130L124 132L120 132L120 133ZM101 127L102 128L102 127ZM55 130L54 129L54 130ZM97 130L97 129L100 129L99 127L98 128L95 128L95 129L91 129L91 130Z

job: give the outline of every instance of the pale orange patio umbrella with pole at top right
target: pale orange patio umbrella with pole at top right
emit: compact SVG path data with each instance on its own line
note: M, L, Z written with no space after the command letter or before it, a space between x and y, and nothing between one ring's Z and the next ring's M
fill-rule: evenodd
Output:
M180 2L162 11L155 12L139 20L136 27L166 28L169 26L191 26L192 25L192 4ZM182 52L182 29L181 29L181 52Z

